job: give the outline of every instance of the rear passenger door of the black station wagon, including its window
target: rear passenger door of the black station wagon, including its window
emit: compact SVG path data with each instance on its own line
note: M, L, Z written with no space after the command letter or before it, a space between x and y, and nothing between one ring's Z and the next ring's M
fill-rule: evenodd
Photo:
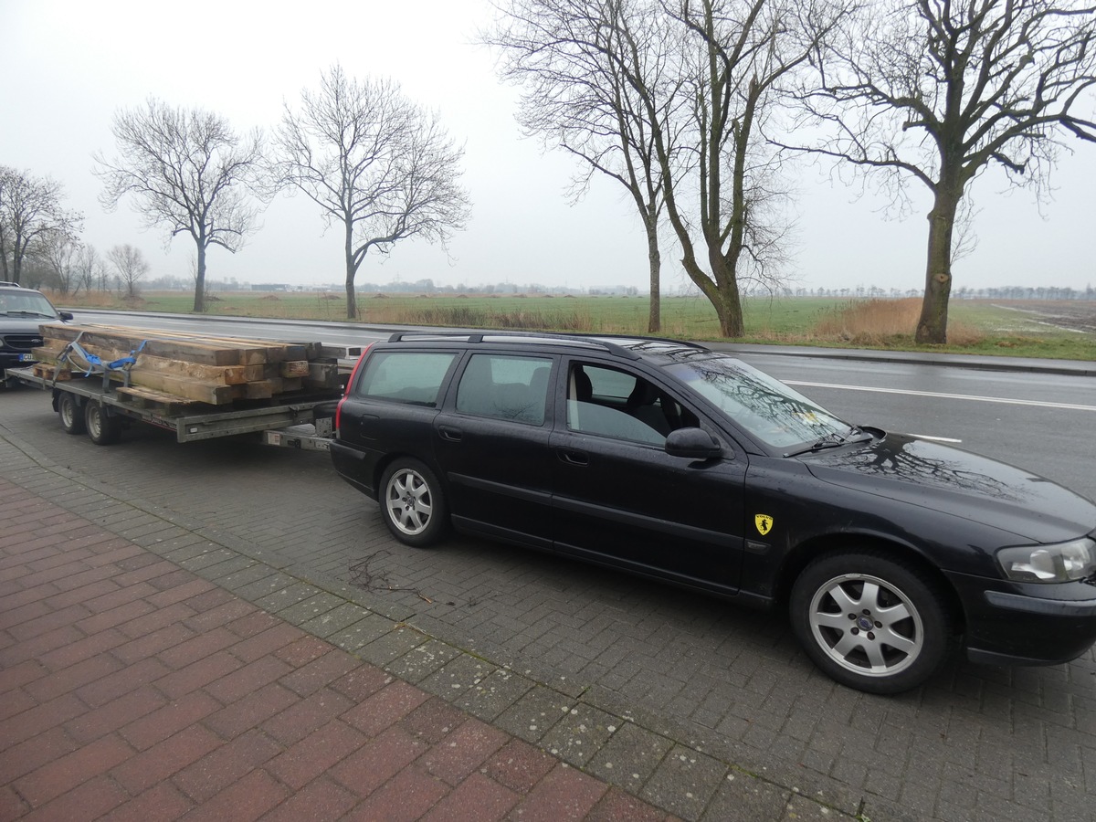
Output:
M468 356L433 422L453 522L465 530L551 546L549 436L558 357Z

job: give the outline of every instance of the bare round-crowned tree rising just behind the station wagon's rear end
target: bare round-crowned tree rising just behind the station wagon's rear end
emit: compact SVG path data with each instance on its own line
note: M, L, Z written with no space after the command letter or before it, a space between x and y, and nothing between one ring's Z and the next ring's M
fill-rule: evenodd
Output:
M370 249L389 253L411 237L444 246L468 220L458 185L464 149L390 80L359 82L335 65L318 92L301 92L299 111L285 106L275 148L276 185L302 191L327 225L342 224L350 319L354 277Z

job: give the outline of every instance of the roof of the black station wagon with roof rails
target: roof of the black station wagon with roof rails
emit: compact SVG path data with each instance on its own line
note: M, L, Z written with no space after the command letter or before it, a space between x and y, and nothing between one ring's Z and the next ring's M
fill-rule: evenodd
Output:
M576 351L602 351L625 359L681 361L698 355L713 355L698 343L655 336L615 334L553 334L547 332L507 333L504 331L400 331L388 342L460 343L468 345L551 346Z

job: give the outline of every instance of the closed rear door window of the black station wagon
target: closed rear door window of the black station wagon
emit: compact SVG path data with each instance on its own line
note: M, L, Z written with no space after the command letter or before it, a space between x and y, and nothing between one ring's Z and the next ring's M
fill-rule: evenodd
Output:
M457 386L457 411L543 425L551 359L473 354Z

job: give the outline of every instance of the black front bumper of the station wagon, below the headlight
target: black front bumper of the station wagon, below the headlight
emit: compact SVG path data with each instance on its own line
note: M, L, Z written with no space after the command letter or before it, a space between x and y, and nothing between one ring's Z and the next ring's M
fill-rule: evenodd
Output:
M1096 585L1013 583L948 573L967 619L972 662L1057 665L1096 642Z

